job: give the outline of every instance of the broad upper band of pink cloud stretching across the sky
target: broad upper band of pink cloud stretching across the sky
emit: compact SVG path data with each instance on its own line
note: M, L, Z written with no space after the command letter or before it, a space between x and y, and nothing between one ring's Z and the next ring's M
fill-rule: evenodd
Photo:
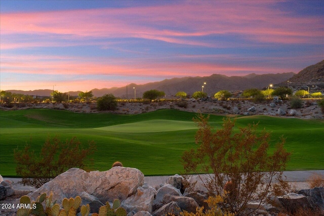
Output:
M250 40L280 44L320 41L324 34L321 19L292 17L270 7L276 3L180 2L154 7L2 13L0 25L4 35L50 33L54 37L74 35L85 40L138 37L204 47L216 45L188 37L239 34ZM4 47L13 45L4 44Z

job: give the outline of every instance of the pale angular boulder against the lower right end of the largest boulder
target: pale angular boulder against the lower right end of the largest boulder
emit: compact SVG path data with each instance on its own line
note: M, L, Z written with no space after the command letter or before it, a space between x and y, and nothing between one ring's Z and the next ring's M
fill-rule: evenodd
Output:
M127 212L148 211L152 213L155 194L156 190L152 187L139 187L135 195L121 202L121 206L124 207Z

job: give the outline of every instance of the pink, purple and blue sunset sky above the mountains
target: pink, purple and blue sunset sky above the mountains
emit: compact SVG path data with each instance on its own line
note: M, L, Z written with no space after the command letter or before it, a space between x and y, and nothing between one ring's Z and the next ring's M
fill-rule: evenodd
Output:
M0 89L299 72L324 59L324 1L0 2Z

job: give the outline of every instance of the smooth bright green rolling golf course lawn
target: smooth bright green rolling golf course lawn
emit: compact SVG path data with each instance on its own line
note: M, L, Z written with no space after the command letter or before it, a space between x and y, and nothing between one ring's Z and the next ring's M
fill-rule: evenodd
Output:
M15 176L13 151L26 142L36 152L48 136L61 140L77 137L83 143L94 140L95 170L107 170L119 160L145 175L180 174L180 156L195 147L195 113L157 110L137 115L72 113L62 110L29 109L0 111L0 174ZM223 116L212 115L210 122L220 128ZM292 152L289 170L324 169L324 122L269 116L236 118L238 127L258 123L272 133L274 145L280 136Z

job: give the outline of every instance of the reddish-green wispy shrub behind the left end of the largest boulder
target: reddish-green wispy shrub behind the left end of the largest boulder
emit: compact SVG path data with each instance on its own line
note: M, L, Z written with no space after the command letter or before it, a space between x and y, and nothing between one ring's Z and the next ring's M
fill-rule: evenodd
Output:
M39 188L69 168L86 168L86 162L92 160L88 157L95 150L93 141L86 148L75 137L65 142L57 136L52 139L48 137L38 156L28 144L23 150L14 150L16 172L22 177L22 184Z

